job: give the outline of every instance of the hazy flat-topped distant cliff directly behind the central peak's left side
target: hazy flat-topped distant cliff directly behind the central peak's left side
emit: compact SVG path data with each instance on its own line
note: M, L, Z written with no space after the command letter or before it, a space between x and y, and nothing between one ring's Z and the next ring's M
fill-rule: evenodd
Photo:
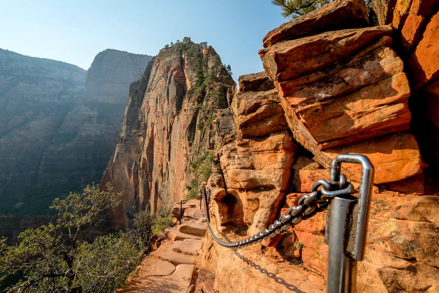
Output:
M129 84L151 58L112 49L95 57L83 95L43 153L39 186L66 186L68 192L80 183L99 182L118 140Z

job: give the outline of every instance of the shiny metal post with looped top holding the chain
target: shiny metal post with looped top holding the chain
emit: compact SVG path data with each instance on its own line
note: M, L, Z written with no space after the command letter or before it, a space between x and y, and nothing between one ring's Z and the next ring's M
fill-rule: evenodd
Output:
M355 293L357 261L364 258L374 167L366 156L339 155L332 161L331 182L340 180L341 163L361 164L357 198L334 197L328 208L325 242L329 247L327 293Z

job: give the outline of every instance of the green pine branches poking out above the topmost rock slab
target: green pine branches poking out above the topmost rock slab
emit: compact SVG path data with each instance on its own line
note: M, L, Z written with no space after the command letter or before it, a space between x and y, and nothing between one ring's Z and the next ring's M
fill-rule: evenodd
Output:
M271 3L282 8L284 18L295 19L305 15L333 0L272 0Z

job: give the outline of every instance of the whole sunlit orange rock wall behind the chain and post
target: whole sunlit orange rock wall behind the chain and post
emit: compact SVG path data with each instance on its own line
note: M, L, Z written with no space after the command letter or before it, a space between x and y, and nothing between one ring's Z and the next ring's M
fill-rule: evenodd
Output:
M437 292L438 4L377 2L379 26L364 1L336 0L266 35L265 71L239 78L234 126L216 134L211 225L223 240L252 236L329 180L338 154L364 154L375 178L358 292ZM359 187L359 165L342 173ZM238 250L207 235L201 267L218 292L325 292L325 222Z

